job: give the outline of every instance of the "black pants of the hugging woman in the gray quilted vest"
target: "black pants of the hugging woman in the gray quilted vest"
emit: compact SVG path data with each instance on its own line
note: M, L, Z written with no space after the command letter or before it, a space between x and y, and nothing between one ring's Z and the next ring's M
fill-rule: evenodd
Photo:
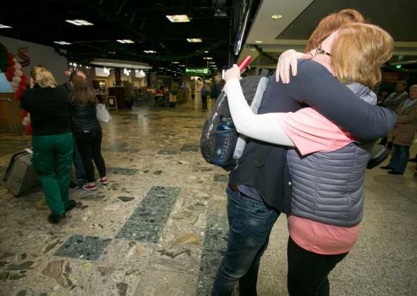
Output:
M287 286L290 296L329 296L328 275L346 255L309 252L290 237L287 247Z

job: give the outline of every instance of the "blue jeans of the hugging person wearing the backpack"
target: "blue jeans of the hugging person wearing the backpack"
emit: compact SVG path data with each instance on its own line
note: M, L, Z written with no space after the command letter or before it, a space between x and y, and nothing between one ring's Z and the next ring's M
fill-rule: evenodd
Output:
M280 213L240 192L228 194L229 240L214 280L213 296L231 295L239 280L239 295L256 295L259 262L270 230Z

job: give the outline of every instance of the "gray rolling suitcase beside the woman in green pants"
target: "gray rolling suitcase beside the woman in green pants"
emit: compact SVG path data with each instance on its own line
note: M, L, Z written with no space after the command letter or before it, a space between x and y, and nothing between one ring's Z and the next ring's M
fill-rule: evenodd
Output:
M3 180L7 189L17 197L39 186L37 173L32 166L32 154L26 151L14 154Z

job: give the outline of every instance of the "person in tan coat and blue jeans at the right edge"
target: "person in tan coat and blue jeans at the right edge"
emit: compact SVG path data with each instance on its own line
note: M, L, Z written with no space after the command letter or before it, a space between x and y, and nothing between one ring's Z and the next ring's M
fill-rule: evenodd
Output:
M406 171L410 157L410 146L413 144L417 130L417 85L410 87L410 97L397 107L397 123L389 139L394 143L390 164L382 166L392 175L402 175Z

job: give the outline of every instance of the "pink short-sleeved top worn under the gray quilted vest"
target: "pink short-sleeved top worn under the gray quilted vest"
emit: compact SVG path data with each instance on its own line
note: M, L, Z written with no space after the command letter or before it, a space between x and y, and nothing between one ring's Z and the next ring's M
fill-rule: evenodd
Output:
M353 140L347 132L312 108L279 113L278 121L302 156L335 151ZM292 240L317 254L349 252L361 230L359 224L354 227L331 226L294 215L288 215L287 223Z

